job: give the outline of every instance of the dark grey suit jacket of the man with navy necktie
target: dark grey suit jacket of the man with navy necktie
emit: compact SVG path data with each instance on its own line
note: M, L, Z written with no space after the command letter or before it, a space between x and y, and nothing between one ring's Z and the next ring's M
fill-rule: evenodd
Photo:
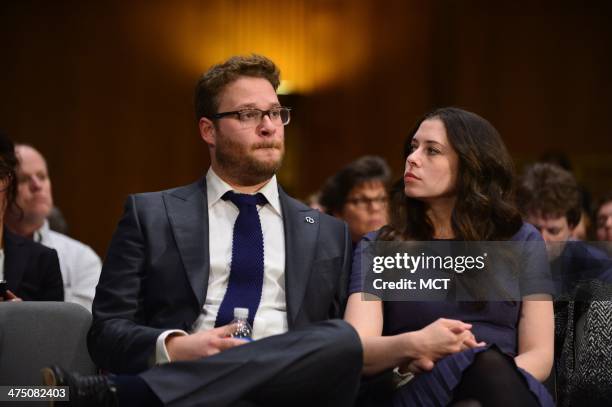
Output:
M280 187L279 197L289 329L341 317L352 256L346 224ZM205 179L128 197L93 303L88 346L98 366L144 371L163 331L191 329L208 284L207 208Z

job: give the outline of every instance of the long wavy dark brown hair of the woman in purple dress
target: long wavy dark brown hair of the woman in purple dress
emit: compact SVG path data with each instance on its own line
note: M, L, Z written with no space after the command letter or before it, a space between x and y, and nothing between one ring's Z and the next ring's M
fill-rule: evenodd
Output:
M451 224L455 239L467 241L506 240L521 227L515 204L514 164L501 136L487 120L454 107L427 113L408 135L404 162L412 138L421 123L439 119L458 156L457 200ZM403 180L392 190L390 222L380 240L431 240L433 225L425 204L404 193Z

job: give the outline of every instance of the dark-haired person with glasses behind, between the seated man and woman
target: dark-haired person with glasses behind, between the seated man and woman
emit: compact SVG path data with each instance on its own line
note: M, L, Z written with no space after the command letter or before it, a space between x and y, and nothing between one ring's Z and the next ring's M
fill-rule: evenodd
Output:
M381 157L364 156L327 179L319 202L325 212L344 220L353 244L387 224L389 166Z

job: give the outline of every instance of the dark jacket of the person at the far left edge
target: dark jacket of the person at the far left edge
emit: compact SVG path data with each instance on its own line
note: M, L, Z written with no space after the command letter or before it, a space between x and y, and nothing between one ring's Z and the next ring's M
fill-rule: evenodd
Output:
M63 301L57 252L4 229L4 279L24 301Z

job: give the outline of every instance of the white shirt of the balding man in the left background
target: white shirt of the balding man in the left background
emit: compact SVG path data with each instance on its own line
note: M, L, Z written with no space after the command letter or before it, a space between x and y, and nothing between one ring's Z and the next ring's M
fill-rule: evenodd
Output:
M57 251L64 280L64 301L80 304L91 312L102 271L100 257L91 247L49 229L47 221L34 232L34 240Z

